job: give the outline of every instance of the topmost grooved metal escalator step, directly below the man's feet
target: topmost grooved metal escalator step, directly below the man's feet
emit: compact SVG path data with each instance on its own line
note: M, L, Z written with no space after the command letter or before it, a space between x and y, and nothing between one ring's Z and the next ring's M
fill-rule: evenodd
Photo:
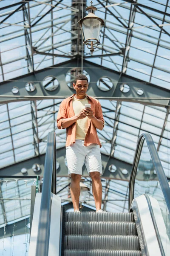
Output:
M132 212L66 212L65 221L133 221Z

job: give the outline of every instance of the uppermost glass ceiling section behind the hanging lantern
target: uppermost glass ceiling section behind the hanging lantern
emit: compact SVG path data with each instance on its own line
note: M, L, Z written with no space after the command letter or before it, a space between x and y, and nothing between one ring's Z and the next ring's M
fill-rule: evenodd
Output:
M94 0L96 15L105 20L96 58L89 58L89 49L78 43L81 33L75 16L82 3L90 5L90 1L71 0L0 1L0 81L83 55L170 89L168 0Z

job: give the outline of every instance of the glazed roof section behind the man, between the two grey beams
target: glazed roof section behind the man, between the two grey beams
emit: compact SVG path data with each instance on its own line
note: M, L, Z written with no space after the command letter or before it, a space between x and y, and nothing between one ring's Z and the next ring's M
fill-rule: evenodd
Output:
M56 132L57 148L65 146L66 130L57 129L56 123L60 102L44 99L0 105L0 168L44 154L48 132ZM149 132L170 177L169 109L134 102L100 102L105 118L104 129L98 131L101 152L132 164L139 135Z

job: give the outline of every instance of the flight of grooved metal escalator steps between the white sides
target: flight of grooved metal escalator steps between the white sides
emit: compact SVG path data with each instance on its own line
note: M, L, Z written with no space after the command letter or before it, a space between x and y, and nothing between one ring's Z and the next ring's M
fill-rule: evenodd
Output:
M132 213L66 212L65 256L140 256Z

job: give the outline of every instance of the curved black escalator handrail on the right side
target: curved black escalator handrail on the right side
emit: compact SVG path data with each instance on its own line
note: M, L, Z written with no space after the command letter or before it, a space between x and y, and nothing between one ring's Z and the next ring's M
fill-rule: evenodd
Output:
M170 212L170 187L168 185L167 177L164 173L164 169L161 165L161 161L160 161L158 152L156 150L155 143L153 142L153 138L150 134L142 134L138 140L136 153L135 153L133 166L132 166L132 172L131 172L130 180L129 180L129 211L130 211L130 206L132 204L132 201L134 199L134 187L135 187L136 173L137 173L137 168L138 168L144 140L146 140L147 146L149 148L150 156L151 156L153 164L155 166L156 175L159 179L159 183L160 183L162 192L164 194L167 208Z

